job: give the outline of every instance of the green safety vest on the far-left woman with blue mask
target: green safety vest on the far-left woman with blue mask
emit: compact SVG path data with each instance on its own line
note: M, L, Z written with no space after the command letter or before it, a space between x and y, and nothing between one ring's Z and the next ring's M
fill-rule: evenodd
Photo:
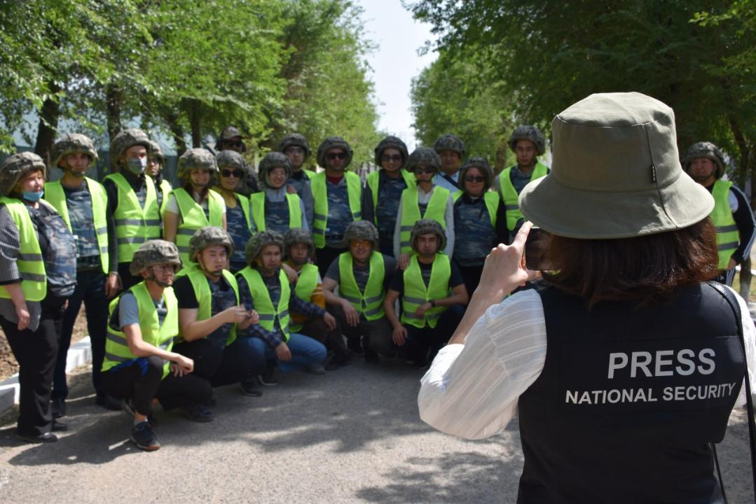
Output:
M42 249L39 248L37 231L29 216L29 209L20 199L3 196L0 197L0 203L5 205L18 227L20 248L16 265L21 276L23 297L26 301L42 301L47 295L47 274L45 262L42 259ZM0 286L0 298L11 298L5 286Z

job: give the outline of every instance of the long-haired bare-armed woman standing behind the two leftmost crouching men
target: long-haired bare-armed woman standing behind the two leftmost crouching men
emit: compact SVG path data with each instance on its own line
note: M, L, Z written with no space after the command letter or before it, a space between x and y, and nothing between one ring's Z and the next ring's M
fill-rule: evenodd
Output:
M184 184L171 193L163 213L163 237L178 246L181 262L189 262L189 240L205 226L226 229L223 196L210 189L218 175L215 156L205 149L189 149L178 158L178 178Z

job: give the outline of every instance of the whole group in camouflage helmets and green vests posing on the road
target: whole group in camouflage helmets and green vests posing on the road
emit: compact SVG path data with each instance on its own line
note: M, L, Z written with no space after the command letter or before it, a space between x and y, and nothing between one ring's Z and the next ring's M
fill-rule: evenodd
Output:
M454 135L412 153L389 136L363 183L348 171L343 138L320 144L316 173L303 169L307 140L287 135L255 174L229 127L217 152L181 155L175 188L162 177L160 146L136 128L113 138L102 183L86 176L98 154L84 135L54 144L57 181L45 182L36 154L9 156L0 165L0 326L20 364L17 434L51 442L67 429L58 419L82 303L95 402L129 409L144 450L160 447L156 401L209 422L213 387L239 383L259 396L277 369L318 375L355 354L425 369L462 319L491 248L522 226L522 188L547 175L538 128L519 126L509 144L516 165L494 178ZM708 143L683 159L696 181L713 178L726 273L748 254L754 224L742 193L720 181L723 163Z

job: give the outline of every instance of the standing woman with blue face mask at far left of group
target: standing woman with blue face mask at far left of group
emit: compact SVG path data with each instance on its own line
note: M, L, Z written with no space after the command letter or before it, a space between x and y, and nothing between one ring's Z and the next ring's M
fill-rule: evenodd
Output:
M0 327L19 366L16 433L29 443L57 441L67 425L50 397L60 326L76 289L76 243L53 206L42 200L45 162L34 153L0 165Z

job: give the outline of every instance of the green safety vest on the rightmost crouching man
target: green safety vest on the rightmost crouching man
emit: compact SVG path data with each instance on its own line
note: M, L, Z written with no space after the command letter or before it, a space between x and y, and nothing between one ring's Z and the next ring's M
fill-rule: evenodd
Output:
M430 273L430 281L426 288L423 273L417 262L417 255L410 259L410 265L404 270L404 295L401 296L401 322L408 323L422 329L427 325L435 327L438 318L447 310L445 306L430 308L417 317L415 310L432 299L449 297L449 278L451 278L451 262L448 255L436 254Z

